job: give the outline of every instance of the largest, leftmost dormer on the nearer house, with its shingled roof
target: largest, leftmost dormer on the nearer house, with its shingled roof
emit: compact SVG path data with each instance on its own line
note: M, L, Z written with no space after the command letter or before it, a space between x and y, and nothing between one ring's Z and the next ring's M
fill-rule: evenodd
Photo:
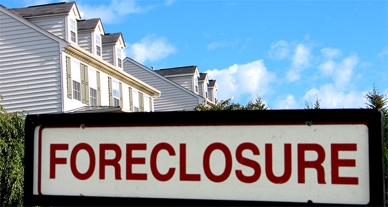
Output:
M9 10L68 42L78 43L77 20L81 19L81 15L75 1L9 8Z

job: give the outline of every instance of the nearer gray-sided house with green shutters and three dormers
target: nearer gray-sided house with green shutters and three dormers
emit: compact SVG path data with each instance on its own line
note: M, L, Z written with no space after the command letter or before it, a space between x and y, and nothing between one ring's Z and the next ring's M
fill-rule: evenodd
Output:
M61 113L94 106L153 111L161 92L122 70L122 35L105 34L100 19L81 20L75 1L0 5L0 22L0 104L8 112ZM112 37L106 45L105 35ZM112 55L104 56L110 45L120 51L112 46Z

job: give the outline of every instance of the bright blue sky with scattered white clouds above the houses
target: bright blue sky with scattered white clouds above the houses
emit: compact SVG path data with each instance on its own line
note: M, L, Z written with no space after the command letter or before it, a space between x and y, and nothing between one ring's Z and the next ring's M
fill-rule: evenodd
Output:
M55 0L1 0L23 7ZM198 66L218 99L273 109L364 107L388 94L387 0L77 0L83 19L122 32L125 55L155 69Z

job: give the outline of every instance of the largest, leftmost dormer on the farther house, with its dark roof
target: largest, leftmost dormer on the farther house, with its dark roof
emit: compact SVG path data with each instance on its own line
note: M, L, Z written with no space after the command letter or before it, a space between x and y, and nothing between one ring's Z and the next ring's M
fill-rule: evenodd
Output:
M199 70L197 66L160 69L155 70L155 72L169 78L170 80L182 85L183 87L193 91L194 93L199 94Z

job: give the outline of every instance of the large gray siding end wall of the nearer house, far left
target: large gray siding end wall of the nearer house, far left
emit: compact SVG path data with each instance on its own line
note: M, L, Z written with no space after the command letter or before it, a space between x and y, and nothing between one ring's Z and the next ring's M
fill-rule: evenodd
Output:
M59 43L3 12L0 21L0 104L7 112L61 112Z

